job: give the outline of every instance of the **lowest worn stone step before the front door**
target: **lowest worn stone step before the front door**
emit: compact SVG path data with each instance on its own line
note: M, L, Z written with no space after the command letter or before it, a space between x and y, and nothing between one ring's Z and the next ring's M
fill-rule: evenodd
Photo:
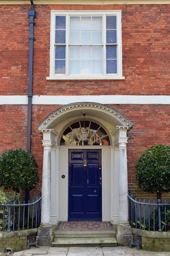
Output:
M89 247L103 247L103 246L117 246L115 237L88 237L88 238L54 238L52 242L53 247L67 247L67 246L89 246Z

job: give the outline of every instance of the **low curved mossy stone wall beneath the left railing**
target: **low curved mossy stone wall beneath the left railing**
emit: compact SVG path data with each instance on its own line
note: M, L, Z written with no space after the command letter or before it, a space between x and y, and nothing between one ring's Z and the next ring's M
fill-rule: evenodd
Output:
M37 236L37 228L29 230L0 232L0 251L5 252L6 249L11 251L26 250L27 240L34 242Z

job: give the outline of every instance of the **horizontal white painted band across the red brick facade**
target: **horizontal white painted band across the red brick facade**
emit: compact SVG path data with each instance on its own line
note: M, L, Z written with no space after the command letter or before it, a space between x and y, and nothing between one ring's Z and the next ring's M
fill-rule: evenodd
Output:
M93 95L93 96L46 96L35 95L34 105L66 105L76 102L97 102L101 104L170 104L170 96L137 95ZM27 105L27 96L0 96L0 105Z

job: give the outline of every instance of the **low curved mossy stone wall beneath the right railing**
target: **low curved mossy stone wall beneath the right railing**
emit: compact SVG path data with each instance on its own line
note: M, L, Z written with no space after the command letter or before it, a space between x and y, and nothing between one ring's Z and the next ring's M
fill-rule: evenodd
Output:
M134 242L139 240L143 250L170 251L170 232L147 231L133 228Z

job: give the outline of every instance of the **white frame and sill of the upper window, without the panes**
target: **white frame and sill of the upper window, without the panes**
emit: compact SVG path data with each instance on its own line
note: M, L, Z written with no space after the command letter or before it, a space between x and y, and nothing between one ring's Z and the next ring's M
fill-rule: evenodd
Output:
M69 15L116 15L117 17L117 74L104 74L103 75L68 75L68 47L66 47L66 74L55 74L55 16L65 15L66 17L66 45L68 46L69 36ZM50 76L47 80L124 80L122 76L122 17L121 10L113 11L56 11L51 10L51 39L50 39ZM103 67L106 65L106 24L103 19Z

